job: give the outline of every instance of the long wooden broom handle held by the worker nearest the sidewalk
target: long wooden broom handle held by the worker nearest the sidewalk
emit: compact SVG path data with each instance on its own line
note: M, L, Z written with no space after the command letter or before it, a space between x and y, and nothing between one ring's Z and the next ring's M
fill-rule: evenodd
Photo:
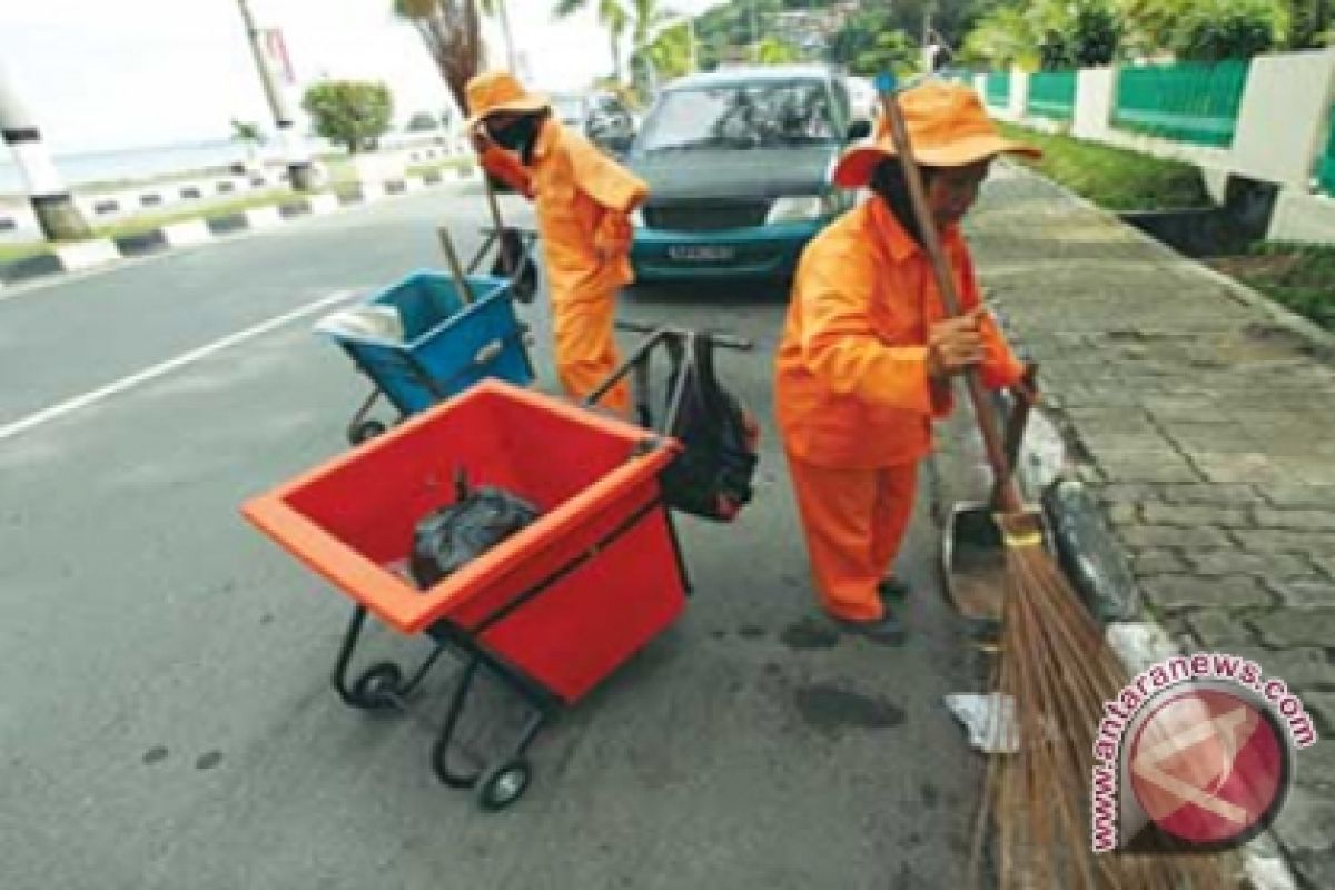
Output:
M918 231L922 235L922 247L932 262L932 274L936 278L936 287L941 292L941 302L945 304L947 315L955 318L960 315L960 295L955 290L955 275L941 250L941 236L936 231L936 221L932 211L928 209L926 192L922 189L922 176L917 161L913 159L913 149L909 145L908 127L904 124L904 115L900 104L894 100L894 76L880 75L876 79L877 91L881 93L881 107L885 120L890 125L890 139L894 141L894 151L898 155L900 165L904 168L904 179L909 187L909 201L913 204L913 215L917 217ZM1024 502L1020 490L1011 476L1009 462L1005 447L1001 443L1001 424L997 422L997 412L987 390L983 388L983 379L977 368L965 371L965 382L969 388L969 400L973 403L973 416L979 422L979 431L983 434L983 447L987 450L988 464L992 467L992 476L996 482L996 508L1003 514L1017 514L1024 511Z

